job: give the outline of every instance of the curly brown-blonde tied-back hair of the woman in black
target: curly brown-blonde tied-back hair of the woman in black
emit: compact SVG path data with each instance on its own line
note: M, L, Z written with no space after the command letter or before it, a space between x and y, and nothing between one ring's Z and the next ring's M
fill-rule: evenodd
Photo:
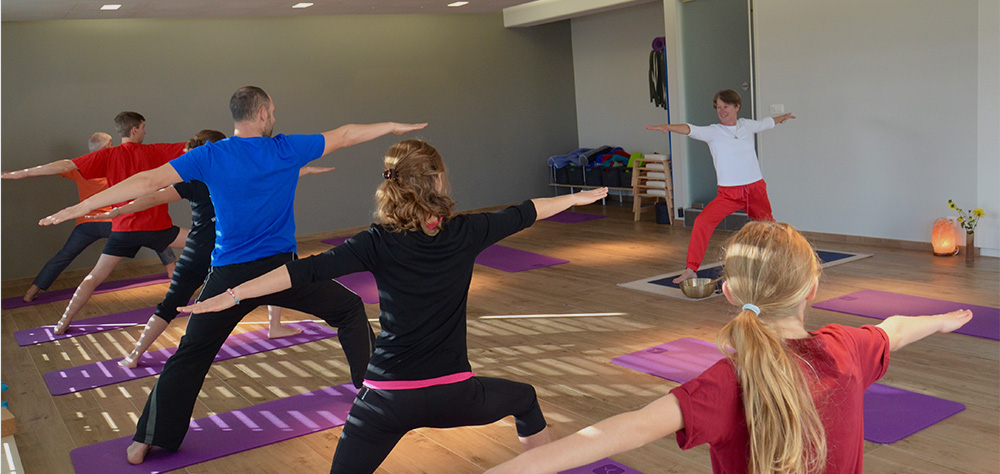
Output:
M385 181L375 191L375 222L390 232L436 235L454 215L448 170L437 149L422 140L403 140L385 154ZM428 226L432 219L436 226Z

